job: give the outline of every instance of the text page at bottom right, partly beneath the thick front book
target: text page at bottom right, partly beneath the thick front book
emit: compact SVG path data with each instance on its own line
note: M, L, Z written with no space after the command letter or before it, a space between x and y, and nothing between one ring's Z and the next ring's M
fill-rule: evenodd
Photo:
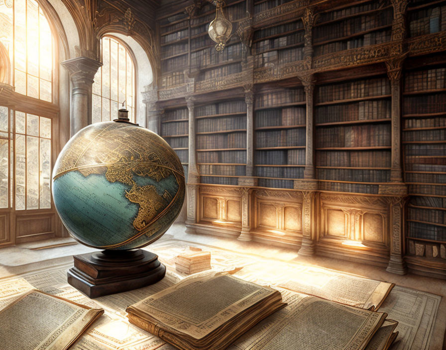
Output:
M386 314L295 293L229 350L362 350Z

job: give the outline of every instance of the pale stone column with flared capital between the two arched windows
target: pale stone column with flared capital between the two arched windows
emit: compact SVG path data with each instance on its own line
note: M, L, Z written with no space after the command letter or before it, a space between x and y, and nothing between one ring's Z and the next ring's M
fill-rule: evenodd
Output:
M102 66L89 57L76 57L61 63L71 77L71 136L92 123L92 87L98 68Z

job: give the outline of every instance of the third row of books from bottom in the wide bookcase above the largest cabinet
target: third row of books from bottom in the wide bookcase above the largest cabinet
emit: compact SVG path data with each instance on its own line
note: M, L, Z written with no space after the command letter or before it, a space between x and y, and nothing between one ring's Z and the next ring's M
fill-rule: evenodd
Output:
M390 168L391 151L317 151L317 167Z

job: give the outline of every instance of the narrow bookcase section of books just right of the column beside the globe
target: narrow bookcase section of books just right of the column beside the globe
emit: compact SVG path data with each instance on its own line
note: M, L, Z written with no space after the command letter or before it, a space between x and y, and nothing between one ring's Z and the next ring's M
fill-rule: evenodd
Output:
M246 104L232 99L195 107L200 182L238 185L246 174Z

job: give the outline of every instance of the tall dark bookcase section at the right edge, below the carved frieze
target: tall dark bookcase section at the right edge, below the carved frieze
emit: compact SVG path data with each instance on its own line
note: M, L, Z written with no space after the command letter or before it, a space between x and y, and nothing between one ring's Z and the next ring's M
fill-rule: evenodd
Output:
M403 91L408 251L438 259L446 244L446 68L408 71Z

